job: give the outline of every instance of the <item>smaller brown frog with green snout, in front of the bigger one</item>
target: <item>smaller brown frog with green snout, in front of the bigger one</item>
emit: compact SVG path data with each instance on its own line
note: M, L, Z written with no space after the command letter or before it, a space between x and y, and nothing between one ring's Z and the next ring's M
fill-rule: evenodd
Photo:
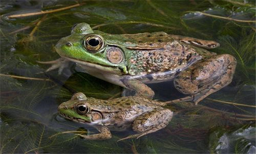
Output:
M110 130L132 128L137 134L124 138L129 139L165 128L173 117L171 110L162 107L165 105L166 103L132 96L112 100L87 98L79 92L71 100L61 103L58 111L63 117L92 125L100 132L93 135L77 134L85 139L110 139Z

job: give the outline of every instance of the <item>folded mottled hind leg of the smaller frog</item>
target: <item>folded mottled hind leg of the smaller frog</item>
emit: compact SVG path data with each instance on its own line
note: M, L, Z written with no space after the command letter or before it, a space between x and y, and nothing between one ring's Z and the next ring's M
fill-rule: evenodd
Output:
M138 139L141 136L165 128L172 117L173 112L169 109L154 110L142 114L132 122L132 130L139 133L127 136L123 139L131 139L135 137ZM119 139L118 141L123 139Z

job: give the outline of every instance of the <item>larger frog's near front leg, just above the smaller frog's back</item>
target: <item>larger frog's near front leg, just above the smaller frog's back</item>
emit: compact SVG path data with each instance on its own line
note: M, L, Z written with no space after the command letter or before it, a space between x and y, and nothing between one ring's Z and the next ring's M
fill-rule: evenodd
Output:
M152 99L154 97L154 91L137 79L124 79L122 82L128 89L136 91L136 96L138 97L144 97L147 99Z

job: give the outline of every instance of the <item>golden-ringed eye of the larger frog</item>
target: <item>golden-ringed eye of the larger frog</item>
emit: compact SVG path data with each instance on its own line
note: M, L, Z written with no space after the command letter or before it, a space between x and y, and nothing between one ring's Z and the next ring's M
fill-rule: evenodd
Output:
M98 51L103 46L103 41L101 37L96 35L87 37L83 42L85 48L91 52Z

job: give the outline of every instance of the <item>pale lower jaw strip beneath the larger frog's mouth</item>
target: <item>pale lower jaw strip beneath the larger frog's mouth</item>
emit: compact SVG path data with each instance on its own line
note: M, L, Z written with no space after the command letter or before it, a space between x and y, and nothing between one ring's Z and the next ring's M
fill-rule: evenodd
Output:
M97 70L104 71L106 73L128 74L127 67L106 66L106 65L102 65L102 64L95 64L95 63L91 63L91 62L85 62L85 61L81 61L81 60L78 60L78 59L71 59L71 58L68 58L68 57L64 57L64 58L68 59L72 62L82 64L83 66L87 66L87 67L90 67L90 68L94 68L94 69L97 69Z

